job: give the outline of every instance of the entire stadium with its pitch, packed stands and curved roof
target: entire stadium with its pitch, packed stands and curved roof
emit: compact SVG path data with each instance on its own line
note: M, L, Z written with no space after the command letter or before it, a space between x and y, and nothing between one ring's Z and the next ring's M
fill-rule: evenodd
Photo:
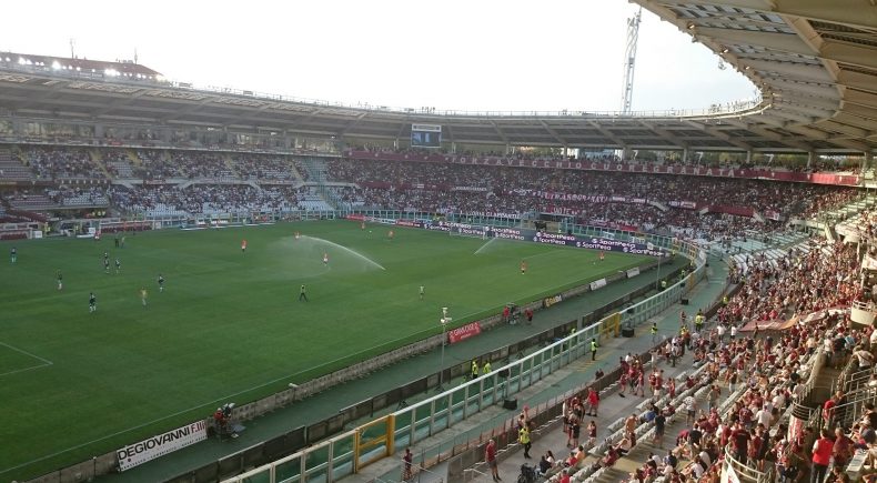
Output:
M617 112L0 51L0 480L873 481L877 7L633 3L757 95L633 110L641 13Z

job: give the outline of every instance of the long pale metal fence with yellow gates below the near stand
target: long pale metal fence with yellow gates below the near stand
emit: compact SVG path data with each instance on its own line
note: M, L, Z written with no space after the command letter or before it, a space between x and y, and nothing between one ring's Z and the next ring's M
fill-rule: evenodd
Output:
M688 288L705 276L706 255L696 245L665 240L682 253L693 253L696 270L667 290L636 304L629 311L631 322L642 322L642 314L657 313L676 303ZM619 314L606 316L551 345L517 361L495 369L490 374L443 391L427 400L400 409L384 419L372 421L315 446L308 447L273 463L226 480L230 483L264 481L332 482L354 474L361 467L394 453L396 446L413 446L425 439L502 403L573 363L589 352L592 339L603 336L618 326ZM624 320L624 316L621 316ZM364 430L367 426L367 430ZM366 447L367 451L360 451Z

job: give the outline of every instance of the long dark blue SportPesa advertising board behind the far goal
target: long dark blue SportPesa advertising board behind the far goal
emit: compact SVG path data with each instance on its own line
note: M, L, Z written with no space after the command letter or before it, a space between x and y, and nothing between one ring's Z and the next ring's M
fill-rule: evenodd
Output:
M430 220L390 220L375 219L352 214L351 220L371 221L384 224L395 224L400 227L421 228L424 230L438 230L454 232L468 237L502 238L506 240L530 241L562 246L575 246L579 249L603 250L607 252L633 253L637 255L668 256L665 251L658 250L652 243L625 242L606 238L576 237L563 233L548 233L522 228L498 228L482 227L480 224L455 223L451 221L430 221Z

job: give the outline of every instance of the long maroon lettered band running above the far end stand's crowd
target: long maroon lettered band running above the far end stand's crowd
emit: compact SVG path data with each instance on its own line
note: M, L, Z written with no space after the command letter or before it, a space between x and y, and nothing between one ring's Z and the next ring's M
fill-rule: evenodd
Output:
M839 184L856 187L859 177L834 173L800 173L794 171L752 170L734 168L679 167L651 163L626 163L583 160L521 160L505 158L474 158L455 154L415 154L393 152L346 151L347 158L385 161L425 161L455 164L496 165L513 168L547 168L562 170L613 171L654 174L689 174L697 177L743 178L798 183Z

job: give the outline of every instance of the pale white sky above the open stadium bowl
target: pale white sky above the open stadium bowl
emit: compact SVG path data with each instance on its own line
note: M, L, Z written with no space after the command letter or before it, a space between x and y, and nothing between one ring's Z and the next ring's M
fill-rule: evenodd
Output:
M13 1L0 51L133 59L168 79L390 108L621 109L623 0ZM10 21L18 19L18 21ZM697 109L754 87L643 11L634 110Z

